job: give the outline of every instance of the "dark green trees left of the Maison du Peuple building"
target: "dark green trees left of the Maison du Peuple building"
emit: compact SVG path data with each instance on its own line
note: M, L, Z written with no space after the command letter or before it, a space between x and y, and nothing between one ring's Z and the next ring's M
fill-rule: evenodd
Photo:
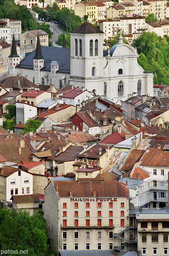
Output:
M40 212L29 216L26 211L10 212L0 209L0 253L6 250L18 251L18 256L51 256L45 220ZM20 253L25 250L27 253ZM8 255L14 255L12 253Z

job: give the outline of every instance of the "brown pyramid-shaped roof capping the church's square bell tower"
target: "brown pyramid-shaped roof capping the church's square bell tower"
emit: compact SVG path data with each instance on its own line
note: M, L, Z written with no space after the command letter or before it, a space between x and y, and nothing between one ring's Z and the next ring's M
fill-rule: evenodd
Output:
M89 22L84 22L83 24L81 24L79 27L73 29L70 33L79 33L79 34L94 34L94 33L103 33L103 31L101 31L100 29L96 28L95 26L93 26L92 24L90 24Z

